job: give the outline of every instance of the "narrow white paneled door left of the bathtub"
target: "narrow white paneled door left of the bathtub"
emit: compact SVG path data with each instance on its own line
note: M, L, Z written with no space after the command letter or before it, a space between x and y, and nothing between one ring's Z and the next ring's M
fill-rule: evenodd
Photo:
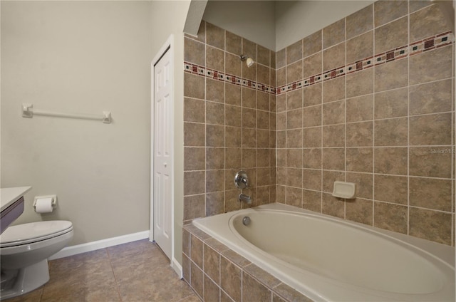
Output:
M172 63L169 48L153 73L153 234L172 259Z

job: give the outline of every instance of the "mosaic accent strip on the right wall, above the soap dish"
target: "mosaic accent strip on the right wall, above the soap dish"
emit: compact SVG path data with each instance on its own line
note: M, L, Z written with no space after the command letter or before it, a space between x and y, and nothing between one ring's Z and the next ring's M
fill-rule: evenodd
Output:
M390 51L378 53L375 56L371 56L368 58L364 58L360 61L349 63L346 66L340 66L338 68L331 69L330 71L324 71L323 73L320 73L318 75L312 75L309 78L304 78L303 80L298 80L294 83L289 83L280 86L276 89L276 94L280 95L281 93L286 93L302 87L320 83L323 80L331 80L333 78L338 78L342 75L348 75L350 73L355 73L357 71L363 71L367 68L378 66L383 63L400 60L401 58L414 56L418 53L423 53L425 51L430 51L435 48L447 46L453 43L454 40L455 39L451 31L440 33L436 36L431 36L429 38L425 38L424 40L410 43L410 45L405 45L392 49Z

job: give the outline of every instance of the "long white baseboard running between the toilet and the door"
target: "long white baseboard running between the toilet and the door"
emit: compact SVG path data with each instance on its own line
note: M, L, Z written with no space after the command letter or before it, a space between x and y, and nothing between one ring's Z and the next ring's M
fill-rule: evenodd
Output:
M73 256L76 254L86 253L87 251L95 251L96 249L104 249L108 246L115 246L118 244L126 244L131 241L137 241L141 239L148 239L150 231L139 231L138 233L92 241L86 244L78 244L76 246L68 246L63 248L61 251L58 251L53 256L49 257L48 260L59 259L63 257ZM177 262L176 262L177 263ZM182 267L181 267L182 271Z

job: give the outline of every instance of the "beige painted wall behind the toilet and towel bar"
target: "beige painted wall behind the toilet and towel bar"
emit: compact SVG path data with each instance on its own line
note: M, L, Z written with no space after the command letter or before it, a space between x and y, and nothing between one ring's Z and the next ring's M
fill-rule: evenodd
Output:
M71 244L149 229L151 5L1 1L1 187L33 187L16 224L68 219ZM21 103L113 123L22 118ZM41 194L52 214L33 212Z

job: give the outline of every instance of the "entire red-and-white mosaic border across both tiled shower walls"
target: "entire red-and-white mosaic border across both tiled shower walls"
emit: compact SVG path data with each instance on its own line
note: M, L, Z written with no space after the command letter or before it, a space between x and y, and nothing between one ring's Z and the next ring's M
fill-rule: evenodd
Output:
M227 73L222 73L220 71L214 71L210 68L198 66L196 64L189 62L184 62L184 71L187 73L202 75L206 78L212 78L214 80L222 80L224 82L232 83L234 85L241 85L243 87L263 91L265 93L270 93L272 95L280 95L282 93L287 93L289 91L293 91L309 85L321 83L323 82L323 80L331 80L333 78L338 78L340 76L348 75L350 73L364 71L373 66L378 66L380 64L387 62L397 61L401 58L407 58L410 56L414 56L418 53L423 53L425 51L430 51L435 48L447 46L452 44L454 40L455 38L452 32L447 31L445 33L440 33L435 36L430 36L421 41L410 43L410 45L394 48L390 51L378 53L375 56L371 56L368 58L364 58L360 61L349 63L346 66L340 66L329 71L324 71L323 73L319 73L317 75L311 75L309 78L297 80L296 82L282 85L278 88L275 88L271 85L257 83L253 80L247 80L236 75L230 75Z

